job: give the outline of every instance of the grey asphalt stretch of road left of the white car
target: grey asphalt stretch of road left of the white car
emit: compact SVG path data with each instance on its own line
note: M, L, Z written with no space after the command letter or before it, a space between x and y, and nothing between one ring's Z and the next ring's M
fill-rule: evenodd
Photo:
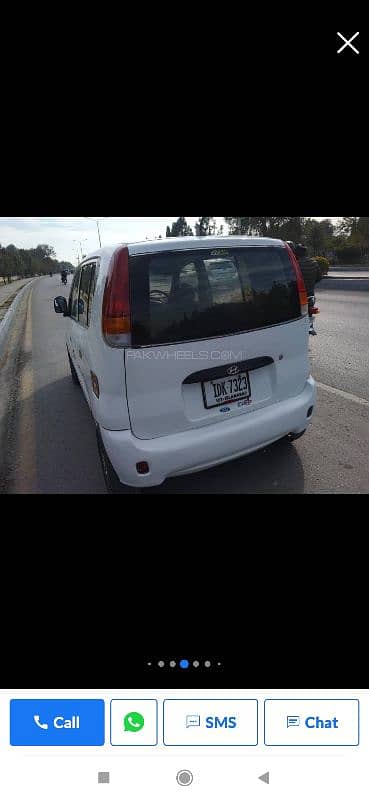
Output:
M36 281L29 294L17 402L7 426L6 492L105 493L94 425L71 382L64 318L53 307L54 297L68 292L53 276Z

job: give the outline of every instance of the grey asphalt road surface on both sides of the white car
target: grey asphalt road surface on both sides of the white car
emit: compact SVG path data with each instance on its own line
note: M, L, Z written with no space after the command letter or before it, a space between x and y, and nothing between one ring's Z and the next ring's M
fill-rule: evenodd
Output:
M30 291L0 491L105 493L94 424L70 378L64 319L53 310L53 298L68 292L58 277ZM151 492L369 492L369 281L330 278L317 298L310 352L318 405L307 434Z

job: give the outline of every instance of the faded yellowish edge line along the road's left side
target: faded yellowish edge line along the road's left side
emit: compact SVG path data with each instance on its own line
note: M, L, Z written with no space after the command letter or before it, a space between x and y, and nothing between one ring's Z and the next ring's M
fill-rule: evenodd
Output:
M32 295L27 303L27 320L18 393L19 424L16 439L17 463L12 492L33 492L37 488L36 475L36 427L34 409L34 377L32 366Z

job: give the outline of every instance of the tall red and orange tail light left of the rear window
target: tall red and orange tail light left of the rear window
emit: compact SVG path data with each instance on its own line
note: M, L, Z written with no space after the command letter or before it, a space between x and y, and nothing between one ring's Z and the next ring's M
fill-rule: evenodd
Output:
M111 347L130 344L131 304L129 294L128 247L117 250L111 260L106 279L102 326L105 340Z

